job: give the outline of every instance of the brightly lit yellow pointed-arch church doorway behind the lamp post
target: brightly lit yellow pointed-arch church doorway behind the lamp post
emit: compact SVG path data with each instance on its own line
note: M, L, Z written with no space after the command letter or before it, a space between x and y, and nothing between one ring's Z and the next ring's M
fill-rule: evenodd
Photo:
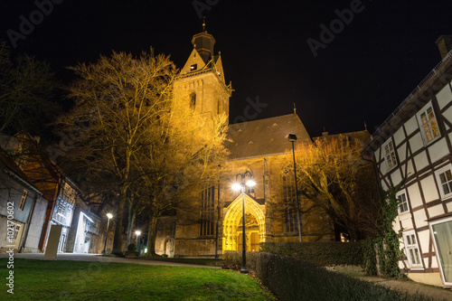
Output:
M242 249L242 202L240 193L224 216L223 250ZM265 214L248 194L245 194L245 232L247 251L259 251L259 242L265 241Z

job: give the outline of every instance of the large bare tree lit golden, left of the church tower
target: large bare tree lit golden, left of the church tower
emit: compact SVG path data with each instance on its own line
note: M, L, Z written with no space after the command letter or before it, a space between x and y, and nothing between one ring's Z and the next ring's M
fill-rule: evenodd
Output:
M59 120L70 136L65 161L90 181L108 182L118 194L113 253L121 254L122 221L127 191L137 181L138 153L149 147L155 122L171 109L174 63L164 55L142 52L138 57L113 52L99 61L71 67L80 76L70 88L71 112ZM105 181L108 179L108 181Z

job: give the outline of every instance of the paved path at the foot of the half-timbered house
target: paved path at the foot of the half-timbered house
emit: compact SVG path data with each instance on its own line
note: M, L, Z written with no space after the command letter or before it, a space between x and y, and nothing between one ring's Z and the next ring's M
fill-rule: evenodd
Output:
M442 287L432 287L414 282L410 280L391 280L381 277L359 277L366 281L372 281L381 286L391 287L401 290L402 292L408 292L409 294L419 293L424 296L429 296L433 300L452 300L452 291L450 289Z

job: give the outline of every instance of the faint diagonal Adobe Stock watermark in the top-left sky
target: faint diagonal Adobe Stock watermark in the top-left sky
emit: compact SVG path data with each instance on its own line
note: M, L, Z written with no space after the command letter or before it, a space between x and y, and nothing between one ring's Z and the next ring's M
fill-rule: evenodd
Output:
M42 24L45 16L52 14L53 6L60 5L64 0L35 0L35 9L32 13L25 17L24 14L19 15L19 30L14 31L13 29L8 29L6 35L9 38L9 42L13 45L13 48L17 48L17 42L25 40L27 35L34 32L35 26Z

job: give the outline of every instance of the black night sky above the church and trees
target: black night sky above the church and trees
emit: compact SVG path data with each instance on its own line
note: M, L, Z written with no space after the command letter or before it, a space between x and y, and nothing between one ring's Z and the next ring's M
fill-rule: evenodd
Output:
M257 118L291 113L296 103L311 136L324 127L330 133L362 130L364 121L372 132L440 61L438 36L452 34L450 0L53 2L3 1L0 38L14 48L8 30L24 33L14 53L51 62L65 82L72 76L65 66L112 50L138 54L152 46L182 68L193 34L202 30L197 10L205 5L207 31L235 89L230 120L243 114L248 98L268 104ZM46 4L47 14L37 11L39 4ZM337 22L335 11L351 5L353 20ZM21 29L23 20L33 20L34 28ZM321 42L320 26L332 22L336 33L315 57L306 41Z

